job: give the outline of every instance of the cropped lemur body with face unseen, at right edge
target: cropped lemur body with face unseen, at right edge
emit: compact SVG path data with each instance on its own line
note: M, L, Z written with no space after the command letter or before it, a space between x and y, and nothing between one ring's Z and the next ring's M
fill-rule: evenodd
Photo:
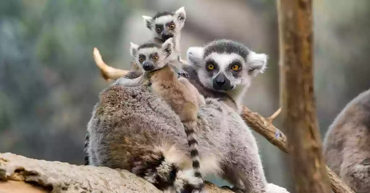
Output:
M351 189L370 192L370 90L350 101L334 119L323 149L329 167Z

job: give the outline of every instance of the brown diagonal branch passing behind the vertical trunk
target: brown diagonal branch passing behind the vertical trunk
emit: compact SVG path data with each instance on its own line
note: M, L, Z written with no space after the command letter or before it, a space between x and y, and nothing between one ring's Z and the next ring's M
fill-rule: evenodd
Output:
M258 132L262 137L265 137L281 151L288 152L286 137L283 132L272 124L272 120L265 119L259 113L250 111L247 107L243 107L242 117L254 131ZM329 175L330 184L332 185L332 190L335 193L355 193L328 167L327 173Z

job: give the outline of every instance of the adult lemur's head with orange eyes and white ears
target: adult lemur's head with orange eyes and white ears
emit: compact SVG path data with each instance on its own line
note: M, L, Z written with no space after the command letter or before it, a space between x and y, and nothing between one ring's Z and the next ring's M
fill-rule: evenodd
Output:
M265 70L267 56L256 54L238 42L221 39L205 47L190 47L187 60L204 86L229 91L249 87L252 77Z

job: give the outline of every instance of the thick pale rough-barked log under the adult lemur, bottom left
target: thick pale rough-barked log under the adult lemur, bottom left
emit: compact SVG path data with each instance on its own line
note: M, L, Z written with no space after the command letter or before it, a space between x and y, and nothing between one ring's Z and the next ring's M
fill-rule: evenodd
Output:
M0 193L162 193L127 170L0 153ZM206 183L209 193L232 193Z

